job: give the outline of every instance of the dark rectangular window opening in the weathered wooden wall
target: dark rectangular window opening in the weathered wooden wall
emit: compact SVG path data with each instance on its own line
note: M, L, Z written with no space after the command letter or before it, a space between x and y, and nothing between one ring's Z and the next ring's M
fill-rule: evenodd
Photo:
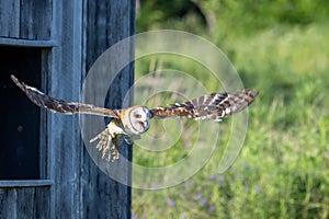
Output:
M41 111L10 74L41 88L42 49L0 46L0 180L39 180Z

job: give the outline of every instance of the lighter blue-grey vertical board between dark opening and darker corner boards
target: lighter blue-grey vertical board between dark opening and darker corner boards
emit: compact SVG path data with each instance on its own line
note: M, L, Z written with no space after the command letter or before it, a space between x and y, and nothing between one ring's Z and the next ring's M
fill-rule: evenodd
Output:
M82 1L58 0L56 36L48 73L48 94L63 100L79 101L81 89ZM83 149L78 116L48 114L49 163L52 165L52 218L82 218L80 198L80 154Z

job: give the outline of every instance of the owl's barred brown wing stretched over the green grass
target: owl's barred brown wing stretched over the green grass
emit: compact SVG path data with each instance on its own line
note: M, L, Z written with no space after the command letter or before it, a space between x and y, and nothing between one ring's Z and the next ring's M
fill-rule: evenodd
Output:
M167 107L151 108L154 118L193 118L222 120L250 105L258 91L248 89L234 93L212 93L184 103L171 104Z

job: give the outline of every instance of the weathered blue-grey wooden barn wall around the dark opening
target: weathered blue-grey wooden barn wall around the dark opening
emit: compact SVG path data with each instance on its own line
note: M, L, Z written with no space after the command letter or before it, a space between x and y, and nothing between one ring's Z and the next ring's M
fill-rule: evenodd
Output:
M135 0L0 0L0 45L45 49L42 90L64 100L79 101L91 65L134 33ZM115 99L107 99L106 106L121 107L133 81L129 65L110 88ZM41 150L45 180L0 181L0 218L131 218L131 188L93 163L78 116L47 113L42 120L47 123ZM129 147L122 153L132 158Z

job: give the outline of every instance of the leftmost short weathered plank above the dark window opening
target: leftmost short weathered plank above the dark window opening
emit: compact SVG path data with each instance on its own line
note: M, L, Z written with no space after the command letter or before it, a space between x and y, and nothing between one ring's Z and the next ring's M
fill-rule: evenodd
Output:
M20 0L0 0L0 36L20 36Z

